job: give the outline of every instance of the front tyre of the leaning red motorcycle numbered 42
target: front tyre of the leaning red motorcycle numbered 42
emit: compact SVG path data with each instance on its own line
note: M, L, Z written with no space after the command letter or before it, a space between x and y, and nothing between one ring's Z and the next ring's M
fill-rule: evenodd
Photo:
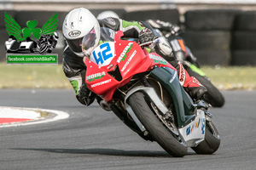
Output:
M179 136L179 133L172 133L165 123L161 122L160 117L154 111L153 102L147 99L147 96L141 92L132 94L129 104L148 133L168 154L182 157L187 153L188 149L183 138Z

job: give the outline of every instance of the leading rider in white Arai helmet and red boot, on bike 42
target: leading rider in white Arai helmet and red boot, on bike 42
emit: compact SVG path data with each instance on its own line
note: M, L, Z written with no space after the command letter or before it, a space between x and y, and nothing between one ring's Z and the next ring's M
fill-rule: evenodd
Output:
M101 27L108 27L113 31L123 31L124 37L138 38L140 43L154 40L154 33L138 22L128 22L117 18L104 18L96 20L96 17L86 8L75 8L70 11L62 26L63 36L67 42L64 49L63 71L75 90L76 97L83 105L90 105L96 98L85 84L86 66L83 57L90 58L90 54L98 44L102 43ZM172 48L166 42L158 42L155 46L156 53L161 56L172 57ZM171 59L173 63L177 59ZM172 64L172 63L171 63ZM179 81L183 88L188 89L194 99L200 99L206 93L207 88L203 87L195 77L189 77L187 71L181 64L176 64L179 74Z

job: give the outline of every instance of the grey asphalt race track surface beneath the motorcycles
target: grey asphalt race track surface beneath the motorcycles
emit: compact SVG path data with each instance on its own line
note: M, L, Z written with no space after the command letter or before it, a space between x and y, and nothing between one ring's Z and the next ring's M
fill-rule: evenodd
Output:
M66 111L70 117L0 128L0 169L255 169L256 91L224 91L212 108L221 145L213 155L168 156L96 102L80 105L72 90L0 89L0 105Z

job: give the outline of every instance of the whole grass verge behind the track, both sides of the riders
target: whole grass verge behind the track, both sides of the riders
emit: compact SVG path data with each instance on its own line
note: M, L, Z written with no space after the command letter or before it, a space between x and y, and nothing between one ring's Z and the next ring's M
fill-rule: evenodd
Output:
M219 89L256 89L256 67L210 67L201 70ZM61 65L0 65L0 88L72 88Z

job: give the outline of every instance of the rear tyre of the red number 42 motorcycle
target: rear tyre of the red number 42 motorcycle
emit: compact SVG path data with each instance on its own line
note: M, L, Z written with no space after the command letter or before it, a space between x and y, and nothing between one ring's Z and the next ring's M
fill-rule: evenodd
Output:
M220 138L218 131L212 122L206 122L205 140L192 148L197 154L212 154L218 150Z

